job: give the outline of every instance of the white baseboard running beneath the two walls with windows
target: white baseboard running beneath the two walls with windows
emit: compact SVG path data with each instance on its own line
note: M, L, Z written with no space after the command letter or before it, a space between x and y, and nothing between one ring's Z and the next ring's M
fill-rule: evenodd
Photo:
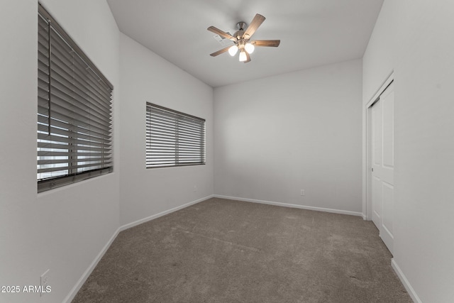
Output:
M107 241L106 245L101 249L101 251L98 253L98 255L96 255L96 258L94 258L92 264L89 265L89 267L87 268L87 270L85 270L85 272L82 275L82 277L79 278L79 280L77 281L76 285L74 285L74 287L72 287L72 290L65 297L63 302L70 303L72 301L72 299L74 299L74 297L76 297L77 292L79 292L79 290L82 287L82 285L84 285L84 282L87 281L88 277L92 274L92 271L94 270L94 268L96 268L96 265L98 265L99 261L101 260L101 258L104 255L104 253L106 253L106 251L109 249L111 244L114 242L116 236L118 236L118 233L120 233L121 231L124 231L124 230L126 230L128 228L131 228L133 226L136 226L136 225L139 225L139 224L143 224L143 223L145 223L147 221L159 218L160 216L165 216L166 214L170 214L170 213L172 213L174 211L177 211L179 209L184 209L185 207L191 206L192 204L196 204L196 203L205 201L206 199L210 199L212 197L214 197L214 195L211 194L211 195L206 196L204 198L197 199L197 200L189 202L187 204L183 204L183 205L174 207L173 209L168 209L167 211L162 211L162 212L160 212L158 214L154 214L153 216L148 216L148 217L146 217L144 219L140 219L140 220L134 221L132 223L125 224L123 226L118 227L117 230L114 232L114 234L109 239L109 241Z

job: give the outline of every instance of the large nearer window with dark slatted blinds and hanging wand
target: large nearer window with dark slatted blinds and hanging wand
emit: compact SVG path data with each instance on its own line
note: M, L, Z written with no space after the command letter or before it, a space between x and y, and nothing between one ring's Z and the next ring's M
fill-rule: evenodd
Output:
M38 192L113 170L112 90L39 5Z

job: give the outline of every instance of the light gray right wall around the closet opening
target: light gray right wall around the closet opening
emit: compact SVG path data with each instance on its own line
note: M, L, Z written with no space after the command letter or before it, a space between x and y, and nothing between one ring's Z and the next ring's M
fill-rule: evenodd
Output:
M454 3L385 0L363 103L394 70L394 267L417 302L454 297Z

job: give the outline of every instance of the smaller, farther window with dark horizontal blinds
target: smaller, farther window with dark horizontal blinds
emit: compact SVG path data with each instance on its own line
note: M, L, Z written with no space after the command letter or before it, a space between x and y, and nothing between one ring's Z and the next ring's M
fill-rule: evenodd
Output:
M205 164L205 120L147 102L146 167Z

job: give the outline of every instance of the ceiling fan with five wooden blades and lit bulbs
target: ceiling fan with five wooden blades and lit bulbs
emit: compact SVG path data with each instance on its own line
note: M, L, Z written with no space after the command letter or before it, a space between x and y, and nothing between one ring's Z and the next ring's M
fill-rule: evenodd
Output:
M248 63L250 61L250 54L254 51L254 46L279 46L281 40L250 40L250 37L257 31L257 28L265 21L265 17L260 15L259 13L255 14L253 21L250 21L249 26L246 28L246 23L241 21L236 24L238 31L231 35L230 33L226 33L221 31L214 26L210 26L207 30L217 33L223 38L228 38L229 40L235 43L234 45L227 46L222 50L218 50L215 53L210 54L212 57L216 57L217 55L221 55L222 53L228 53L233 57L236 55L238 50L240 50L240 62Z

